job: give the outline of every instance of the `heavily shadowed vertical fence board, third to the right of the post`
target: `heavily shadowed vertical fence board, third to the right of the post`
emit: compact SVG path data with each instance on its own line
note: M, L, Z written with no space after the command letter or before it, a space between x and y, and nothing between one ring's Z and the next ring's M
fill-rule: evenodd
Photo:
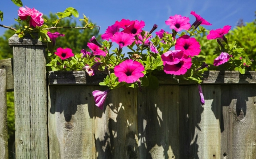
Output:
M177 85L138 92L139 158L180 158Z

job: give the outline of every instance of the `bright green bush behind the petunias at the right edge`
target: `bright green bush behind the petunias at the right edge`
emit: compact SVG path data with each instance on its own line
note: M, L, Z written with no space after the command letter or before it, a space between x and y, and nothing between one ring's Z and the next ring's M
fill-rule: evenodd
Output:
M221 48L216 40L207 40L205 33L203 33L203 36L195 36L201 45L200 54L206 57L205 62L209 65L208 70L239 70L241 73L245 70L256 70L256 23L251 22L246 23L245 26L236 27L229 31L225 37L230 44ZM223 41L222 44L224 44ZM233 57L224 65L215 67L213 61L220 55L221 51L226 51L232 54ZM250 63L251 66L246 67Z

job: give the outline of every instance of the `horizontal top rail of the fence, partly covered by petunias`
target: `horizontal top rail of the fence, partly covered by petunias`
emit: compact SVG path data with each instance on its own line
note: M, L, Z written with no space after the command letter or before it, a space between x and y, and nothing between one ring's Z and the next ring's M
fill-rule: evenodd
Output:
M189 81L174 79L174 76L164 72L154 74L159 79L159 85L191 84ZM256 84L256 72L246 71L241 75L239 71L205 71L202 84ZM85 71L49 71L49 85L98 85L106 78L105 72L97 72L88 76Z

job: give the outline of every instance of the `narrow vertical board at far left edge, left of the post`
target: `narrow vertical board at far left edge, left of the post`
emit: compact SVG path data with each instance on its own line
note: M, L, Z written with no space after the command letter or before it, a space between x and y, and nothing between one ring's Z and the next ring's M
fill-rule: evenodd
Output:
M6 71L0 68L0 158L8 158Z

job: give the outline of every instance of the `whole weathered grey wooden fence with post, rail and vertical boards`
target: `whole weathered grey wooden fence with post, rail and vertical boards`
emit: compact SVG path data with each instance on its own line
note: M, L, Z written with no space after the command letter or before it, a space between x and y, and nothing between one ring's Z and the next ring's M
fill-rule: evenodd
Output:
M158 74L158 89L115 89L100 110L92 91L107 89L98 85L104 75L47 75L44 44L17 36L9 44L16 158L256 158L254 71L206 72L203 106L195 84ZM0 147L6 145L5 92L12 89L5 74L0 69Z

